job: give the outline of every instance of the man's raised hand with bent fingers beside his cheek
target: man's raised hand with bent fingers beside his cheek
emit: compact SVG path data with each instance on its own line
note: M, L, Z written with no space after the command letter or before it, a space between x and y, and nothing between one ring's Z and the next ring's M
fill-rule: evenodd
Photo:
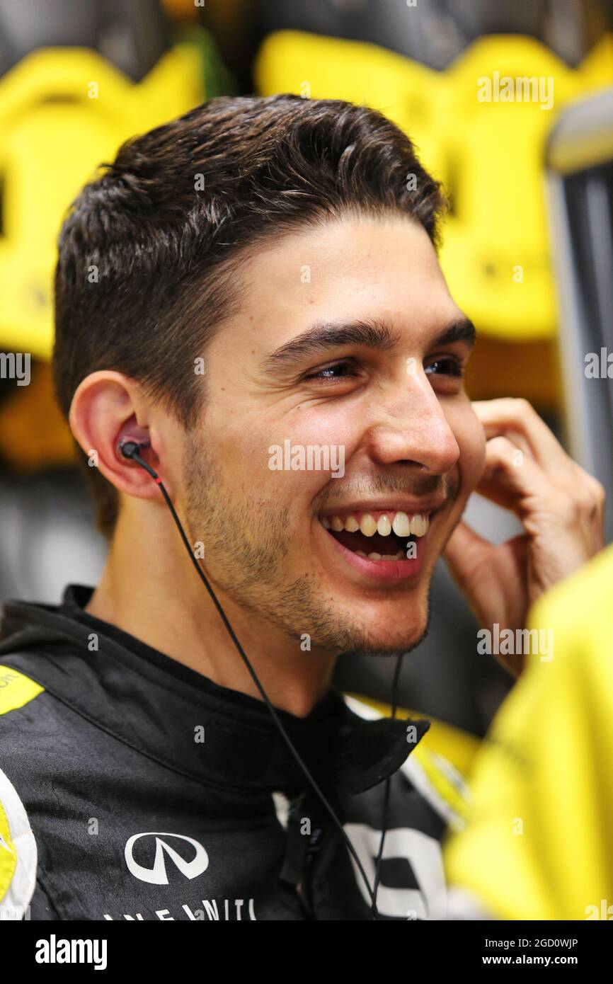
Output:
M509 509L525 530L499 546L466 523L445 558L479 625L523 628L527 609L603 546L604 489L566 454L527 400L480 400L473 408L487 438L476 492ZM501 656L518 675L523 655Z

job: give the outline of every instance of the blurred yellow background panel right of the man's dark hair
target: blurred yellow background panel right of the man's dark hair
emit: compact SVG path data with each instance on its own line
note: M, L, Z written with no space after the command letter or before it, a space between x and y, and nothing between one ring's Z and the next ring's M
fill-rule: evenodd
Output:
M441 263L460 308L493 338L555 337L543 155L560 111L613 85L611 36L577 69L533 38L484 36L437 72L372 44L277 31L256 81L265 95L365 103L397 123L451 195Z

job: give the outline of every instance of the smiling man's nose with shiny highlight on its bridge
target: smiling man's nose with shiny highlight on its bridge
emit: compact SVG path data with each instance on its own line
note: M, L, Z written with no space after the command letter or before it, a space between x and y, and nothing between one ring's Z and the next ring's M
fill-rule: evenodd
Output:
M381 464L411 462L439 475L457 464L458 441L424 372L379 394L373 418L370 451Z

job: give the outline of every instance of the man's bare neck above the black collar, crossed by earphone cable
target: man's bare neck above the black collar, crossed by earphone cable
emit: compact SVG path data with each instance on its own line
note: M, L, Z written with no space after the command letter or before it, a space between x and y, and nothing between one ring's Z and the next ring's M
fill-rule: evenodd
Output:
M161 515L158 523L144 530L122 511L87 611L219 686L261 698L176 531ZM306 716L328 690L335 656L302 652L276 625L215 594L271 703Z

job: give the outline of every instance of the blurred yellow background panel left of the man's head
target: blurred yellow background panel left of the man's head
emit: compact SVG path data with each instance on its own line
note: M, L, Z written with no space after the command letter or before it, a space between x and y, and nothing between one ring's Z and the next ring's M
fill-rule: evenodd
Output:
M196 45L134 84L96 52L41 48L0 79L0 347L48 358L63 215L120 144L204 98Z

